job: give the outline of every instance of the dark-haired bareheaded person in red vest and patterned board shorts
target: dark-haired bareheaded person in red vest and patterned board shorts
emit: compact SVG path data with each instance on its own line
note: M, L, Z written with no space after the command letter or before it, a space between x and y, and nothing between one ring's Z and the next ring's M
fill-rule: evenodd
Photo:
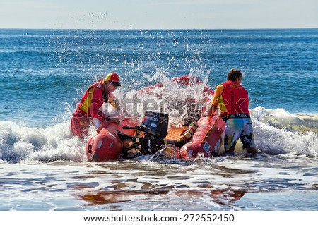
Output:
M242 87L241 71L232 68L227 81L218 85L214 92L211 107L206 116L213 116L220 108L220 116L226 122L224 148L225 152L234 152L240 138L247 153L256 153L252 121L249 116L249 96Z

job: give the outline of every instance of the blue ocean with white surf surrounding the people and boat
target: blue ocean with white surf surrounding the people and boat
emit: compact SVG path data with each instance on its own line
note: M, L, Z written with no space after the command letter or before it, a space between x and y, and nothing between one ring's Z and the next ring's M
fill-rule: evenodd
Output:
M317 52L318 29L0 29L0 210L316 211ZM213 90L230 68L245 73L262 154L96 163L71 134L83 92L107 73L123 99L188 74Z

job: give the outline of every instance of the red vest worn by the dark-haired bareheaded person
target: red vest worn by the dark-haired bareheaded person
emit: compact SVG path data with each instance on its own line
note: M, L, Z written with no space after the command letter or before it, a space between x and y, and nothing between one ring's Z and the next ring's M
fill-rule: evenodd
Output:
M247 90L239 83L231 80L222 83L222 85L224 87L223 93L217 98L221 112L220 116L249 115L249 97Z

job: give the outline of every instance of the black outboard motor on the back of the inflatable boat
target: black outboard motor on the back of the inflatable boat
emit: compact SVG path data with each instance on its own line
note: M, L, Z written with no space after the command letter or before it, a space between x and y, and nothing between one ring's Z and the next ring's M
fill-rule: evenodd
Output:
M141 123L141 131L145 132L141 154L154 154L163 146L168 124L168 114L146 111Z

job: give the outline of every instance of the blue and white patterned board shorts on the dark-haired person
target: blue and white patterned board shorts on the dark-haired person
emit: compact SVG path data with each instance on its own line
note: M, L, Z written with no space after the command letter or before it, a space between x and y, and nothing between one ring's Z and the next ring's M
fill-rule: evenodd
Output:
M243 149L255 147L251 118L230 118L226 121L225 151L230 150L230 148L234 150L239 138L243 144Z

